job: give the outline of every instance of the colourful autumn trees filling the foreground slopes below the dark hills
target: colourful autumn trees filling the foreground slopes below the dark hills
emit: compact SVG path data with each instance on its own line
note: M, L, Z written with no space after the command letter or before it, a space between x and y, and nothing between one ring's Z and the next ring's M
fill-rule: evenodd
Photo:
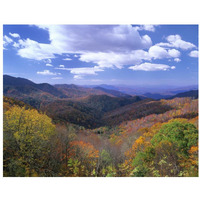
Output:
M41 111L5 98L4 176L198 176L198 100L160 100L159 106L166 110L140 115L139 109L134 116L141 117L134 120L87 129L52 122Z

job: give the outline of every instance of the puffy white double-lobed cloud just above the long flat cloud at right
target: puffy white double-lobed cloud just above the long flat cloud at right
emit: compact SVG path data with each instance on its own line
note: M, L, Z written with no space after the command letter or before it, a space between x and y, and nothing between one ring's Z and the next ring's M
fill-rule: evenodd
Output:
M176 49L166 50L163 47L155 45L149 48L149 55L154 59L163 59L163 58L179 57L181 54Z

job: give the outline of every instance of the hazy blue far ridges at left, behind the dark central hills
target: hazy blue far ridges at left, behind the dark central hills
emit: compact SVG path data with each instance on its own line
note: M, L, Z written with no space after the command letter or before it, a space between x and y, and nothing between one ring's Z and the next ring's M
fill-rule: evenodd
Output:
M55 100L81 100L91 95L107 95L109 97L131 98L119 91L108 90L101 87L85 88L74 84L50 85L48 83L36 84L25 78L3 76L4 96L12 97L35 108L40 108L41 103L50 103Z

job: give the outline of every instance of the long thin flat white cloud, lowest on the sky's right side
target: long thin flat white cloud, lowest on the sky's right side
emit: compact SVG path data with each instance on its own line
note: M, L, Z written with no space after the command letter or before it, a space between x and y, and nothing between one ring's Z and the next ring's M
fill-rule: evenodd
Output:
M174 67L174 66L172 66ZM129 67L129 69L132 69L134 71L166 71L168 69L173 69L172 67L164 64L152 64L152 63L142 63L140 65L135 65Z

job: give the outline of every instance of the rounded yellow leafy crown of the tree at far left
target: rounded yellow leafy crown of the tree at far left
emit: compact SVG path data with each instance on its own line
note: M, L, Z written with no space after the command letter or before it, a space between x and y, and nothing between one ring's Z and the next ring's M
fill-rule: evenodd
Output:
M13 106L4 114L5 132L12 133L17 140L32 140L35 136L42 140L47 140L54 133L55 125L51 118L45 114L38 113L37 110L25 110L18 106Z

